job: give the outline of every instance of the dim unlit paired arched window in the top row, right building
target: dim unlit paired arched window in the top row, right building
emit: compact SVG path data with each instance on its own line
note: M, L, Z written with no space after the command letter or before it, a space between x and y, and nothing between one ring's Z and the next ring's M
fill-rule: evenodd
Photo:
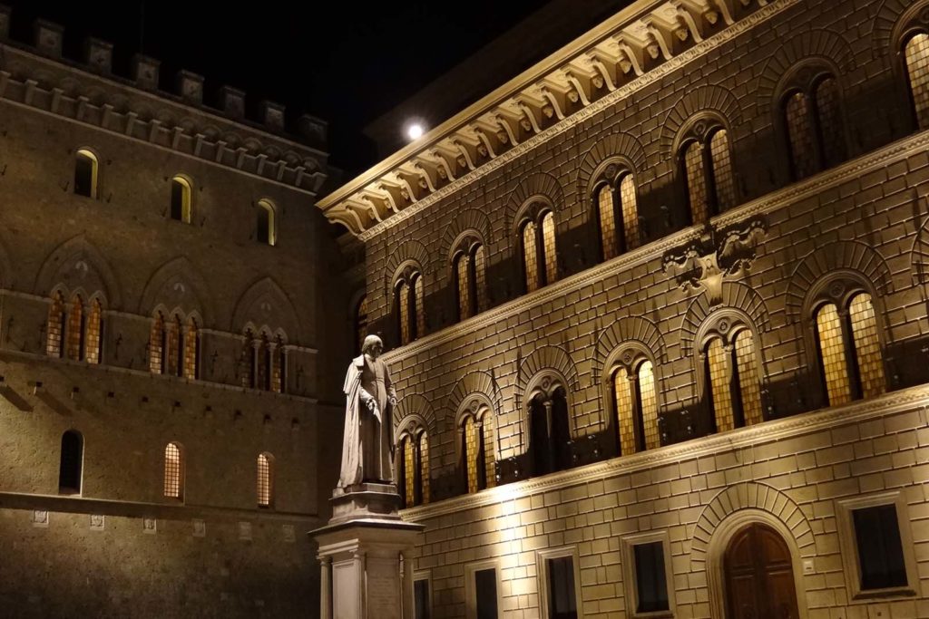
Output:
M792 78L782 105L797 180L845 158L839 83L828 72L814 73L812 79L808 73L800 71Z

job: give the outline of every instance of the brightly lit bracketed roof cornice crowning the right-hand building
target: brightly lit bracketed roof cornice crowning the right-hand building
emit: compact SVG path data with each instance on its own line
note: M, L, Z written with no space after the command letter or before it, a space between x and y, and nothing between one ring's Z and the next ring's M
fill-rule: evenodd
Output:
M640 0L318 203L353 234L391 226L606 110L796 0Z

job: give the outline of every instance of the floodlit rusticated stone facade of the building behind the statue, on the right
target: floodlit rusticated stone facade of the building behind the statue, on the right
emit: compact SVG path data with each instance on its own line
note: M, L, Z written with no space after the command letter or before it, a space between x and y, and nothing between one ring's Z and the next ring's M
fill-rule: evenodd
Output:
M929 616L927 32L642 0L320 200L421 616Z

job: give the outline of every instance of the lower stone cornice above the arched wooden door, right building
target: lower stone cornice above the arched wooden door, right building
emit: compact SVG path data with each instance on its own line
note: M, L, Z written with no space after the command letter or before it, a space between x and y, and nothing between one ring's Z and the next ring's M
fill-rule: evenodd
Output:
M750 428L740 428L722 434L693 439L686 443L651 449L627 457L613 458L569 471L561 471L513 484L504 484L475 495L464 495L402 511L404 520L416 522L465 509L498 505L523 496L561 490L578 484L600 481L608 477L646 471L674 465L681 460L708 458L719 453L796 438L814 432L833 430L836 427L881 419L908 410L922 408L922 423L929 423L926 406L929 406L929 386L886 393L880 397L812 411L787 419L765 421Z

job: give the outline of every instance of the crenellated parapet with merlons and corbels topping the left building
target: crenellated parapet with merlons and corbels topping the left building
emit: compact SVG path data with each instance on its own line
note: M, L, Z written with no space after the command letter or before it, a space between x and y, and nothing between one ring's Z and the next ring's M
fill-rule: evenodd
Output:
M245 93L223 86L219 109L203 102L204 79L178 71L176 91L160 90L157 59L137 54L131 77L112 72L113 46L88 38L81 62L62 57L64 30L45 20L33 45L8 38L10 10L0 6L0 101L96 126L133 140L315 194L326 179L326 123L300 116L285 133L284 106L262 101L246 118Z

